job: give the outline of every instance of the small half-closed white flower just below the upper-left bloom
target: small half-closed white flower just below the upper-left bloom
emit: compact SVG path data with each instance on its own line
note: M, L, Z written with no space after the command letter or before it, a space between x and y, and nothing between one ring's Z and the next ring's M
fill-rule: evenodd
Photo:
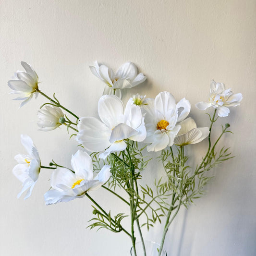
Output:
M37 125L41 127L41 131L51 131L59 127L64 119L64 114L61 108L56 106L45 106L44 110L37 112L39 122Z

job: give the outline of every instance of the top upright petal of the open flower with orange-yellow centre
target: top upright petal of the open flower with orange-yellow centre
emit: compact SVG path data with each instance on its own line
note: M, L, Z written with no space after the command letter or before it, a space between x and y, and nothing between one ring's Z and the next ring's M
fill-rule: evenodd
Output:
M163 120L175 112L176 103L169 92L160 92L155 98L155 109L163 115Z

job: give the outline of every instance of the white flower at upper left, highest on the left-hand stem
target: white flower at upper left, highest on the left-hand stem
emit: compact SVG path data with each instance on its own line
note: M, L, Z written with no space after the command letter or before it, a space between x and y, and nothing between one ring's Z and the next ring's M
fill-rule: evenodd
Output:
M36 71L24 61L21 61L21 65L26 72L17 72L14 74L15 80L8 81L8 86L12 89L11 94L19 95L14 99L24 100L20 107L31 100L33 94L35 94L36 98L38 95L38 75Z

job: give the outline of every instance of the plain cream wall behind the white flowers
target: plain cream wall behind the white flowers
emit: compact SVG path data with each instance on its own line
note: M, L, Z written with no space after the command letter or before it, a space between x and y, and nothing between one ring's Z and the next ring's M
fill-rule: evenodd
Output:
M195 103L207 99L211 79L243 94L241 106L218 121L231 124L234 135L227 134L222 143L236 157L212 171L216 177L196 206L180 212L165 248L168 256L256 255L255 13L255 0L1 1L0 255L129 255L131 243L124 234L85 229L93 216L87 198L45 206L50 170L41 171L25 201L16 198L22 184L12 175L13 157L24 152L20 134L32 137L43 165L54 159L69 166L77 150L65 128L37 130L44 98L17 110L20 102L11 100L7 81L22 69L20 61L35 68L43 92L56 92L79 116L96 116L104 88L88 68L96 60L113 70L133 61L147 81L130 93L153 98L167 90L177 101L186 97L199 127L208 120ZM205 146L188 150L200 157ZM146 182L161 175L159 165L151 163ZM93 196L113 212L124 207L105 191ZM160 229L143 232L147 240L159 242Z

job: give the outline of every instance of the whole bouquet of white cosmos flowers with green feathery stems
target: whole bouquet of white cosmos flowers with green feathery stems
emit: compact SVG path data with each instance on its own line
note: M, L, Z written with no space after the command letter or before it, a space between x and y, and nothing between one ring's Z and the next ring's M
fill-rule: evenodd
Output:
M65 108L56 98L50 98L39 89L38 75L26 62L21 62L25 72L15 73L15 79L8 82L16 100L23 100L21 107L41 94L48 101L38 110L38 126L42 131L50 131L65 125L73 134L80 149L71 157L72 169L52 161L42 165L32 139L21 135L21 142L27 154L15 156L18 164L13 174L23 183L24 198L28 198L37 183L42 169L52 169L50 190L45 193L46 205L68 202L87 196L94 204L90 228L106 228L112 232L124 232L130 237L134 256L139 256L135 246L135 226L142 244L142 254L146 251L141 227L147 229L159 221L164 229L157 254L162 255L165 236L180 207L187 207L195 198L204 194L205 185L211 180L208 171L217 164L232 158L229 147L217 147L221 137L231 133L228 123L222 125L219 137L212 141L213 124L219 117L229 115L229 107L240 104L242 94L233 94L222 83L212 81L207 102L199 102L196 107L206 110L213 107L209 117L209 127L197 127L188 117L191 109L189 100L181 99L177 104L169 92L160 92L156 98L134 95L124 106L121 98L123 89L143 83L146 76L138 73L132 62L124 63L116 73L96 61L90 66L91 72L102 80L106 87L98 100L98 118L78 117ZM206 153L195 166L188 165L186 146L208 139ZM160 151L165 177L154 184L141 185L143 172L151 160L147 151ZM195 162L195 161L194 161ZM149 170L150 171L150 170ZM111 215L110 209L103 209L93 197L96 189L107 190L130 207L129 213ZM115 192L122 189L126 196ZM140 223L141 217L146 219ZM130 218L130 228L122 220Z

